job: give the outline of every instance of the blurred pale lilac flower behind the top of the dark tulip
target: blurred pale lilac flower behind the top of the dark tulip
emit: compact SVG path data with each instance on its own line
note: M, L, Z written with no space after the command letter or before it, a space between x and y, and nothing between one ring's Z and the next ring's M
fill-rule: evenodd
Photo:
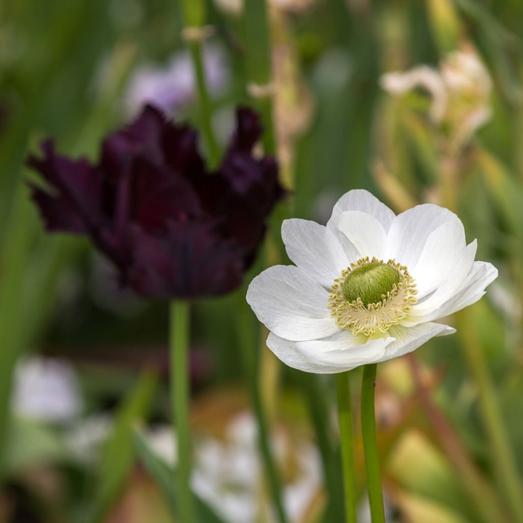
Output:
M203 67L211 96L220 96L229 84L229 66L221 47L203 48ZM176 115L196 99L194 67L187 50L176 53L166 66L145 65L129 81L125 103L129 112L151 104Z

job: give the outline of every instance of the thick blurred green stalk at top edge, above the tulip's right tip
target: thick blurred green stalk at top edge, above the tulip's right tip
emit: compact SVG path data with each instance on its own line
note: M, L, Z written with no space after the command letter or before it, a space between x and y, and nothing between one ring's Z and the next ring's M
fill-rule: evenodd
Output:
M270 29L266 0L245 0L245 68L250 83L268 86L272 79ZM264 122L264 148L267 154L275 154L276 139L272 116L272 96L256 98L256 106Z

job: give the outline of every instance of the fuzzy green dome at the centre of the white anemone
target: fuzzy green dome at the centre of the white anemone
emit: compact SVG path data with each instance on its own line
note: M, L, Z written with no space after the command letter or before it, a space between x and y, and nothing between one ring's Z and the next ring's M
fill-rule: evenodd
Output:
M343 295L349 303L358 298L366 306L380 303L400 281L400 274L394 267L382 261L371 261L349 272L343 282Z

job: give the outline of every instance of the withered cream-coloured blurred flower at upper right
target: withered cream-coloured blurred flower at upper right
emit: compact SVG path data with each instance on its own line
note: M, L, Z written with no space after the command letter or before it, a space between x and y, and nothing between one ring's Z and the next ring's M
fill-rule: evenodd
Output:
M427 90L432 99L429 116L434 123L449 126L455 147L470 140L492 115L492 79L470 48L447 54L439 69L420 65L406 72L385 73L381 85L393 95L415 87Z

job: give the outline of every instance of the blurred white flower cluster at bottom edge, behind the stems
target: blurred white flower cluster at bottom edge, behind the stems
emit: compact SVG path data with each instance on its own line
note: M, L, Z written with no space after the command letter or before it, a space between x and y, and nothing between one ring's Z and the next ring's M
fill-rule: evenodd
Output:
M173 464L176 451L172 429L156 427L146 435L158 456ZM306 441L297 443L283 430L272 435L272 446L280 468L286 470L289 461L294 463L283 487L283 499L290 519L300 520L322 485L319 454L314 446ZM234 416L222 438L207 435L195 438L192 490L224 520L273 521L269 503L264 501L263 483L256 422L251 414Z

